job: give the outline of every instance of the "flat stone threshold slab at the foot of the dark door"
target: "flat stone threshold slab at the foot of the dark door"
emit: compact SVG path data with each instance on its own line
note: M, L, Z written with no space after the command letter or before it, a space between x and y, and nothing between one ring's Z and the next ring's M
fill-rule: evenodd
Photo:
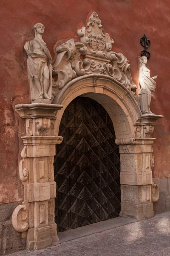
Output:
M83 227L77 227L74 229L66 230L63 232L57 232L59 237L59 243L53 243L51 246L62 244L80 237L89 236L95 233L101 233L105 230L110 230L116 227L121 227L138 220L128 217L116 217L107 221L100 221L94 224L89 224Z

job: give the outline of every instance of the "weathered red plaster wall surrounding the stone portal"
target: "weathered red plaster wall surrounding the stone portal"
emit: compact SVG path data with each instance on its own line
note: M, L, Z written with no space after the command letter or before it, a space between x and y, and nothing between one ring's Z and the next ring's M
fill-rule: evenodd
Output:
M29 103L26 52L23 46L34 38L33 26L45 25L43 39L54 57L56 41L77 38L90 12L98 13L114 40L113 51L122 52L131 64L137 83L137 57L145 33L151 41L151 76L158 75L151 111L164 115L153 137L155 178L170 176L170 2L169 0L1 0L0 1L0 203L22 201L23 188L18 175L18 160L23 148L24 122L14 105ZM19 128L18 128L19 125ZM20 133L18 133L20 131Z

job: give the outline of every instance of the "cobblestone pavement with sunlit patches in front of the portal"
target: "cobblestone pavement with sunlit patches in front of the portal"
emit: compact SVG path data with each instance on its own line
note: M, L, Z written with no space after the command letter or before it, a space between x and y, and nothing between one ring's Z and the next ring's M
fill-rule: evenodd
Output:
M10 256L170 256L170 212L81 237L44 250Z

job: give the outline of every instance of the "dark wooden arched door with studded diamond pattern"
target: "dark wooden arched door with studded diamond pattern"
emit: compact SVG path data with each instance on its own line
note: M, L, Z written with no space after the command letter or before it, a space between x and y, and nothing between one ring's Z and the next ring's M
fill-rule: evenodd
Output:
M77 97L65 109L56 146L55 218L58 231L114 218L120 212L120 158L110 116L96 101Z

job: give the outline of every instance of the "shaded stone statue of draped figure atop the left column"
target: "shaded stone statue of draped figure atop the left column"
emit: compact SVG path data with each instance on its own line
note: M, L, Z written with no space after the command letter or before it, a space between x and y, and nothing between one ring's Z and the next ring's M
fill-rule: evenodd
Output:
M52 98L52 58L42 39L44 29L43 24L35 24L35 38L28 41L24 46L28 55L27 68L32 103L51 103ZM45 100L43 101L43 99Z

